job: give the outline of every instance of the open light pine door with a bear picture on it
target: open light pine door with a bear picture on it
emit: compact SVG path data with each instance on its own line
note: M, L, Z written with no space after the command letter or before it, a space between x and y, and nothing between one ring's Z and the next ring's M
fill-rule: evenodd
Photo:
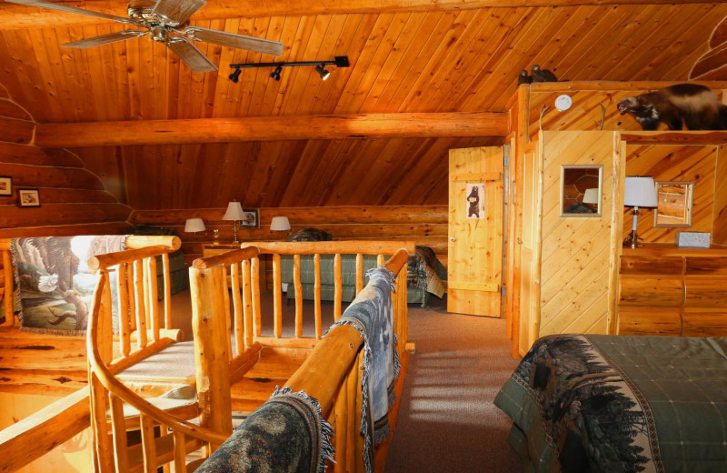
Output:
M501 317L503 147L449 152L447 311Z

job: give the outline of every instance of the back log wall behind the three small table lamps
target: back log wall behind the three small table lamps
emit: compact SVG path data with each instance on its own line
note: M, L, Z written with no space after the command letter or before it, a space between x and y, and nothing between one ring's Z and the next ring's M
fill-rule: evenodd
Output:
M173 228L182 238L182 249L188 263L202 257L202 247L212 244L212 229L220 230L221 243L233 241L231 222L222 220L225 208L185 210L134 210L129 218L133 225L154 225ZM447 206L319 206L268 207L260 209L260 228L241 228L241 241L284 240L287 232L270 231L274 216L287 216L292 231L304 227L320 228L334 239L405 239L417 245L432 247L443 265L447 262ZM206 231L184 233L184 221L199 217ZM272 278L269 278L272 280Z

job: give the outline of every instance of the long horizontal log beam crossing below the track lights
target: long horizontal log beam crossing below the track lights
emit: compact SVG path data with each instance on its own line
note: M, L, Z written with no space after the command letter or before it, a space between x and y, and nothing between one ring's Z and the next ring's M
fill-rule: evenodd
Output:
M178 145L342 138L507 136L502 112L256 116L37 124L35 146L45 148Z

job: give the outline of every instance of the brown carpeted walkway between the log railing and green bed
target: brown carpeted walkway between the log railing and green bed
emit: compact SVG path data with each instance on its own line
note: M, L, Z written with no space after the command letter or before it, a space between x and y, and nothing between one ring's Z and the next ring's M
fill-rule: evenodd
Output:
M515 472L522 462L507 443L510 420L493 399L518 360L505 321L409 306L409 358L386 473Z

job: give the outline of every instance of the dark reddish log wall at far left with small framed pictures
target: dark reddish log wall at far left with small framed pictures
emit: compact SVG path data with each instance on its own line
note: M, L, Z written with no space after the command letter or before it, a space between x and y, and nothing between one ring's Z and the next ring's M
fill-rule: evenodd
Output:
M0 237L123 233L131 209L105 192L77 156L34 146L34 130L33 117L0 85L0 176L13 185L12 196L0 196ZM26 187L38 189L41 206L18 206L17 189Z

